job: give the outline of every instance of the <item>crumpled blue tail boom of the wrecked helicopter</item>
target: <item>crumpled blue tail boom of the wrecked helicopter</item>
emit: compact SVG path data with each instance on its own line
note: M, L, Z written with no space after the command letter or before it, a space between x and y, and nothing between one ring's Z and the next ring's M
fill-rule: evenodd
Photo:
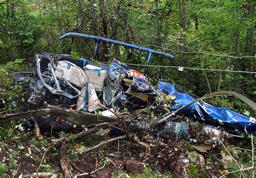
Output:
M177 110L191 103L194 99L197 99L197 97L187 92L179 91L175 84L165 81L159 81L158 90L176 97L171 103L171 110ZM187 106L187 108L181 110L179 114L196 119L200 118L210 125L222 126L226 130L235 133L256 135L255 118L242 115L241 113L221 106L211 105L204 101L199 101Z

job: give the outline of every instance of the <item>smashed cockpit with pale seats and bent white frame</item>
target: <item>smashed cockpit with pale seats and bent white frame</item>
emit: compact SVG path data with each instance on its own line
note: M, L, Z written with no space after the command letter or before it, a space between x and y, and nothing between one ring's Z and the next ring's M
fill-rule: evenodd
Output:
M96 88L103 88L105 74L100 72L102 75L100 76L99 73L99 77L93 80L95 69L92 68L99 67L93 66L91 61L75 60L69 55L41 54L36 55L35 62L35 79L30 86L33 91L29 99L31 104L42 103L45 92L48 92L46 97L49 97L49 95L53 98L56 97L55 100L59 104L65 106L79 104L77 98L84 97L86 84L89 93ZM104 65L102 64L102 66ZM102 69L102 71L105 70ZM99 79L102 80L99 81ZM91 81L97 81L98 83ZM44 92L45 88L47 90Z

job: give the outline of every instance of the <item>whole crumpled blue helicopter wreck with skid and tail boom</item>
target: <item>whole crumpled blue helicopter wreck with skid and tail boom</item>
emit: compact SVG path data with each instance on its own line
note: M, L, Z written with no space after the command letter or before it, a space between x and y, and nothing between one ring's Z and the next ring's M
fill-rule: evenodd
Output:
M68 35L95 39L96 54L99 41L112 42L146 51L149 53L149 58L145 73L153 53L173 58L171 54L154 51L153 49L90 35L69 33L63 35L62 38ZM136 117L133 117L133 120L129 118L129 122L126 122L126 124L129 126L130 123L130 126L141 130L156 129L159 126L159 119L166 115L174 116L171 112L181 109L176 114L190 118L190 122L197 120L198 122L211 125L205 127L206 129L202 129L202 132L207 135L205 142L210 141L212 143L212 141L216 141L214 139L215 136L222 133L221 131L217 134L217 131L215 131L218 126L223 127L225 131L232 134L256 135L254 118L220 106L208 104L204 101L192 103L183 109L183 106L196 101L197 98L187 94L187 92L179 91L173 83L165 81L159 81L157 89L155 89L151 86L145 74L125 66L118 60L113 60L110 65L106 65L95 60L74 59L70 55L44 53L36 55L35 63L36 66L33 68L33 72L15 74L17 84L21 84L23 80L28 81L28 76L30 76L31 96L28 98L28 103L30 104L30 110L33 110L2 116L0 117L0 122L20 117L27 118L30 116L39 117L46 115L60 116L62 119L75 125L115 122L121 118L118 111L126 110L127 113L127 111L132 112L138 109L149 109L152 106L162 105L163 96L167 94L172 95L174 99L170 103L171 107L166 108L167 111L165 110L164 115L151 118L147 123L145 120L140 122L136 120ZM28 82L26 82L26 85L28 86ZM255 108L254 102L249 101L249 103L254 105L253 107ZM57 106L57 108L52 108L52 105ZM145 118L148 119L147 116ZM182 139L187 139L188 134L188 141L194 141L196 140L195 137L198 137L197 134L190 133L188 129L189 125L189 128L192 128L194 124L174 123L173 118L167 120L163 128L164 123L160 123L162 126L160 133L165 133L165 135L171 133L172 136L174 135ZM212 130L209 128L212 128ZM121 133L117 131L117 128L114 130ZM124 134L123 131L122 133Z

